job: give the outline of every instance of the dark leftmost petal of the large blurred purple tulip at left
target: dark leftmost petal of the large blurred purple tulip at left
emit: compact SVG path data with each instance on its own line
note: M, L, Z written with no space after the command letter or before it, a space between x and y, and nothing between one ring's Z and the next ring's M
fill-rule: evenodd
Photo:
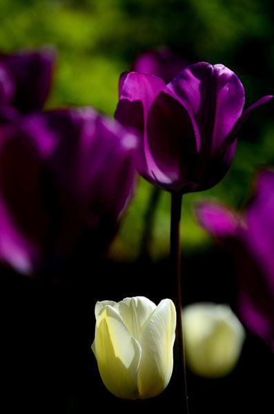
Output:
M26 132L14 125L1 128L0 148L0 233L5 245L0 255L17 270L19 257L32 268L41 248L46 249L50 225L43 204L43 160ZM8 260L7 246L12 244Z

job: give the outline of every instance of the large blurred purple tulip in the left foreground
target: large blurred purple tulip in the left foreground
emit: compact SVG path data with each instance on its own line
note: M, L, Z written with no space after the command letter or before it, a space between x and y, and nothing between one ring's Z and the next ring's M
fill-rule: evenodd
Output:
M0 259L20 273L58 267L81 237L96 257L132 193L137 138L91 108L6 124L0 136Z

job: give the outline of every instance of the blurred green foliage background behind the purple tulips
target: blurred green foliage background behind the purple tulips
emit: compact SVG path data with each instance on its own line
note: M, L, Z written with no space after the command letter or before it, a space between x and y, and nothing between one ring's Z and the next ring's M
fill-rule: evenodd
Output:
M53 45L58 59L48 108L92 105L113 115L119 75L148 48L167 46L187 61L223 63L237 73L246 103L274 92L273 1L261 0L0 0L0 49ZM197 199L241 208L257 168L274 164L273 104L257 110L240 132L235 159L215 188L184 197L182 246L201 251L211 239L195 221ZM139 255L152 186L139 178L110 257ZM149 251L168 254L168 193L162 193Z

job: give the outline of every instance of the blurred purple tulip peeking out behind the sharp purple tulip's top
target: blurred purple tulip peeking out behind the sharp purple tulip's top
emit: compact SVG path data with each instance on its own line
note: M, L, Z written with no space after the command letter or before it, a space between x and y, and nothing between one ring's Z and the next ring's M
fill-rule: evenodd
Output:
M172 81L188 63L168 48L147 50L133 62L133 72L146 72L163 79L164 83Z

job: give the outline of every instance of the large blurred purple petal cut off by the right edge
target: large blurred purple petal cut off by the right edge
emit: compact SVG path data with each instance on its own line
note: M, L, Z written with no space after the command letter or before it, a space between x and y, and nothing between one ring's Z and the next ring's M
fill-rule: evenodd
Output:
M240 237L239 310L248 328L274 351L274 172L260 173Z

